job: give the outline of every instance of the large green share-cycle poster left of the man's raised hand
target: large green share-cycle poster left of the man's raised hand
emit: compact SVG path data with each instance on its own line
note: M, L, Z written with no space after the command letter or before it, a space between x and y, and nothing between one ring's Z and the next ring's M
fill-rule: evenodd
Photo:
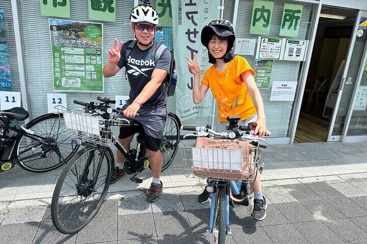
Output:
M103 25L48 19L54 90L103 92Z

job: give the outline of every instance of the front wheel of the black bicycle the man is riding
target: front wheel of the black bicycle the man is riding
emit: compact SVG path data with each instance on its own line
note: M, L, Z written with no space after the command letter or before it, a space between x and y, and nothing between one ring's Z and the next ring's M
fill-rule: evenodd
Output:
M101 159L103 148L106 150ZM110 185L113 159L111 149L101 146L85 147L70 159L51 201L51 218L58 231L64 234L80 231L97 214ZM99 160L102 160L100 167Z

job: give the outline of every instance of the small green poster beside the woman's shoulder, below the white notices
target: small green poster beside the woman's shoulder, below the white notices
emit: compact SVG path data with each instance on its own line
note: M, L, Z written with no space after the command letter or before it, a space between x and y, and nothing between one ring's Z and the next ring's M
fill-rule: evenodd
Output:
M254 79L257 88L269 89L272 70L273 60L255 59Z

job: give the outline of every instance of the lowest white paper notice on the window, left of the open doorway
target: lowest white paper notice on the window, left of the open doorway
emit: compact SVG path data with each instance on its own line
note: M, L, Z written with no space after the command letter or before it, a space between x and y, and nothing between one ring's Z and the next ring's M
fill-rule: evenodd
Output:
M273 81L270 101L293 101L296 88L296 81Z

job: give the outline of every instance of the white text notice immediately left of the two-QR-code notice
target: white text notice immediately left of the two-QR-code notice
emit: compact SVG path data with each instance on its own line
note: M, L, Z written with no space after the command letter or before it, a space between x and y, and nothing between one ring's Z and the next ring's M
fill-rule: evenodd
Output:
M259 37L256 51L257 59L280 59L282 38Z

